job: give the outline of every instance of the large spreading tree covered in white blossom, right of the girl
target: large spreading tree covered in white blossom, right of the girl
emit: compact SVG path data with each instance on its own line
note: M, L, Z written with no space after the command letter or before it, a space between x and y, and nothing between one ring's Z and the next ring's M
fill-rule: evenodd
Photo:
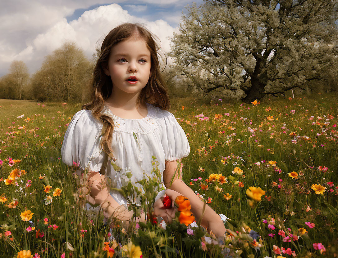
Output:
M173 67L203 94L246 102L335 73L337 0L204 0L171 38Z

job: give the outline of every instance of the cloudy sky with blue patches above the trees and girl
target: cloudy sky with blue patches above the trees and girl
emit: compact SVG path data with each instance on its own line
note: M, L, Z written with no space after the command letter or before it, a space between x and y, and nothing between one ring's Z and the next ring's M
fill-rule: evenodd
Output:
M29 73L44 57L75 41L88 58L98 42L124 22L143 23L157 35L162 50L170 50L169 37L178 32L185 6L202 0L11 0L0 1L0 77L14 60L24 61ZM100 41L101 40L101 41Z

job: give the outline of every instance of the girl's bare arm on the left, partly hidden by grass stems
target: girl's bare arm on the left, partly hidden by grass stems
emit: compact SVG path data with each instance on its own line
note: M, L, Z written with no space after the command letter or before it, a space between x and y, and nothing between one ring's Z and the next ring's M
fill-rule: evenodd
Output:
M126 221L126 226L128 227L133 211L128 211L125 206L119 205L110 195L105 185L104 175L101 175L99 172L91 172L88 176L87 183L90 187L90 194L87 197L87 200L93 204L101 205L100 209L104 211L106 218L114 216L121 221ZM145 221L144 213L136 218L136 222L140 221Z

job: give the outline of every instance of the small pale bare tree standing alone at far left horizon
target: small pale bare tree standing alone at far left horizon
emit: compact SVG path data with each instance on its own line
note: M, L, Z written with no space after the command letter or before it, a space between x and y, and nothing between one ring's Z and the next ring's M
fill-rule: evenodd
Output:
M14 82L14 89L22 99L22 92L29 80L28 67L23 61L13 61L9 66L9 76Z

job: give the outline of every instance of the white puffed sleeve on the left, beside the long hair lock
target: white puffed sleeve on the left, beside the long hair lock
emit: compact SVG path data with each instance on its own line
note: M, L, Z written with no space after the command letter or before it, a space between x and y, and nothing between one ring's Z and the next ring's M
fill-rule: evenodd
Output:
M79 169L99 172L104 162L104 151L100 146L102 125L91 115L90 110L78 111L70 121L61 147L62 161Z

